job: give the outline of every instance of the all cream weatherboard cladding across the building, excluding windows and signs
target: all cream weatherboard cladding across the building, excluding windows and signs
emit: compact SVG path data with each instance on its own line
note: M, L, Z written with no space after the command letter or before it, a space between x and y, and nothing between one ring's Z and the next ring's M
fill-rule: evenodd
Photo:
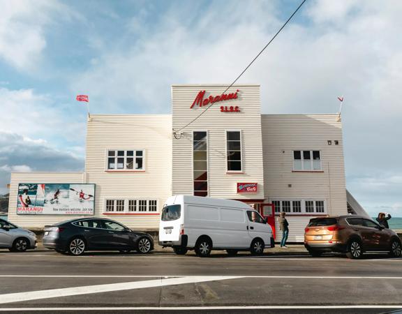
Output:
M190 108L200 90L219 95L225 85L172 86L172 115L92 114L87 124L85 173L13 173L10 220L43 227L77 216L16 215L18 183L96 184L95 216L116 219L141 230L156 230L159 215L105 215L105 200L158 201L158 213L170 195L193 195L193 130L208 132L209 196L241 200L325 200L327 213L346 214L341 123L333 114L260 114L260 87L237 85L238 98L215 103L180 139L172 136L205 107ZM239 105L240 112L221 112L221 105ZM244 173L226 173L226 130L241 130ZM180 136L180 135L179 135ZM327 144L332 140L332 145ZM334 145L334 140L339 144ZM145 171L107 171L107 149L143 149ZM292 172L293 150L320 150L322 172ZM237 193L238 182L258 183L258 193ZM289 188L288 184L292 187ZM288 216L289 241L303 241L312 216ZM276 225L278 230L278 225ZM281 232L277 232L281 239Z

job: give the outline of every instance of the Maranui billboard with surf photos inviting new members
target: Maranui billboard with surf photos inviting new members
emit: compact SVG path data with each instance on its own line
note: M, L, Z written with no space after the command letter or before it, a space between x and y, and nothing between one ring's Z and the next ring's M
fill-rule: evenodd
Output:
M17 214L94 215L95 184L19 184Z

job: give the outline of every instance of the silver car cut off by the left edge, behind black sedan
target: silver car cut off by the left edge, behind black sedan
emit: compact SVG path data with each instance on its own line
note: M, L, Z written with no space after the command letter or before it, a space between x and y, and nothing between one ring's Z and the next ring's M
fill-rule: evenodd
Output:
M24 252L28 248L36 248L36 234L0 219L0 248L8 248L12 252Z

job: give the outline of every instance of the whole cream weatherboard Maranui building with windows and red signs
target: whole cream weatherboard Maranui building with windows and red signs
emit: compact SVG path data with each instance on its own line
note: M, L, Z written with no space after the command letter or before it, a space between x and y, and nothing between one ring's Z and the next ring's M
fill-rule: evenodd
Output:
M158 230L165 200L179 194L241 200L266 216L263 204L274 204L297 242L313 217L364 214L348 203L336 114L261 114L259 85L222 94L227 86L173 85L172 114L91 114L84 172L14 172L9 220L41 228L80 217L17 214L19 184L94 184L94 217L136 230Z

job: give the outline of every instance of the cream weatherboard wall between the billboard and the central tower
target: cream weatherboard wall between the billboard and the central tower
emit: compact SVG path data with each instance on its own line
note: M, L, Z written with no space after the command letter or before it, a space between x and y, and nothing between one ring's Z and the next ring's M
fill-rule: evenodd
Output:
M107 171L107 150L144 150L144 171ZM157 200L158 213L172 195L172 116L92 114L87 127L87 182L96 184L96 216L136 229L158 228L154 214L105 215L105 200Z

